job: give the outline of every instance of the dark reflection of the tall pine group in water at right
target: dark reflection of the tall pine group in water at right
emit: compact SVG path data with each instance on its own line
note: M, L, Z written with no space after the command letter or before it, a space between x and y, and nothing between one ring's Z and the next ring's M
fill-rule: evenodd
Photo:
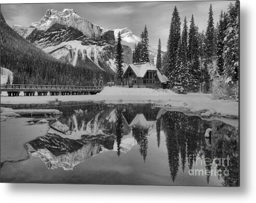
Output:
M197 164L197 159L200 158L204 159L208 183L212 166L217 164L219 165L217 169L221 170L219 176L224 179L223 185L239 185L239 143L236 127L220 121L201 120L200 117L187 116L182 112L165 113L162 117L162 125L166 136L170 174L173 181L177 177L179 156L181 156L183 171L186 161L188 162L188 168L192 169L193 165ZM212 129L211 140L204 137L207 128ZM229 166L227 160L225 164L218 164L218 161L214 161L214 158L227 157L230 157ZM225 170L229 171L229 176L225 176Z

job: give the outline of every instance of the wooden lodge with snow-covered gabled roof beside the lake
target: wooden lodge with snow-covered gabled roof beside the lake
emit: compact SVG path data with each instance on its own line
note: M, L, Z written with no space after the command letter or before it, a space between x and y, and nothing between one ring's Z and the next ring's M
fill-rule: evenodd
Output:
M157 88L165 89L168 78L161 74L149 62L129 64L122 76L123 85L127 88Z

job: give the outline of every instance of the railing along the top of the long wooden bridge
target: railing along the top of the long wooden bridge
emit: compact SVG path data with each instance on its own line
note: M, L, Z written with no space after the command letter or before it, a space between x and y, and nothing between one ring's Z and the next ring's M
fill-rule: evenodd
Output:
M72 86L72 85L37 85L37 84L1 84L0 85L1 91L24 91L24 90L31 90L31 91L49 91L49 90L56 90L56 91L72 91L72 90L102 90L103 86Z

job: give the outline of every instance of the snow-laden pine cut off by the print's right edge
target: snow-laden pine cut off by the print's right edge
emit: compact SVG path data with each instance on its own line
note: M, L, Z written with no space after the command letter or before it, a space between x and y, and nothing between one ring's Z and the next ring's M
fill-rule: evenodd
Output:
M228 24L224 38L224 75L227 80L237 81L239 76L239 1L228 8Z

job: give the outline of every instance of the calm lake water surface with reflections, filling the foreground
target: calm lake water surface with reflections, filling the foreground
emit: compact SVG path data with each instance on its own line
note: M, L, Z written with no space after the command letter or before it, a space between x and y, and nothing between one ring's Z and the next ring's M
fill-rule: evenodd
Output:
M1 122L1 181L239 185L236 126L150 104L50 108L63 114Z

